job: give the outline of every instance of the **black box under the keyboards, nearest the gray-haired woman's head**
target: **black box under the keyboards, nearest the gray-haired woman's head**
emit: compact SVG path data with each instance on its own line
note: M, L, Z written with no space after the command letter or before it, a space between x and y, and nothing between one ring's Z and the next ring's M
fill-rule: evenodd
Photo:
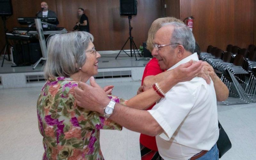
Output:
M42 57L40 44L39 43L29 43L28 48L29 48L30 63L34 64L37 62L37 60L39 60Z

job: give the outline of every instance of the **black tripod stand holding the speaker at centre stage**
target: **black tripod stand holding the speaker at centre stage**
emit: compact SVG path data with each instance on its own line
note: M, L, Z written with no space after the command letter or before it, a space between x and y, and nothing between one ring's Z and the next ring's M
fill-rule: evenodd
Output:
M136 44L134 43L133 37L132 37L132 27L131 27L132 15L129 15L129 16L128 16L128 19L129 19L129 37L127 38L127 40L126 40L126 42L124 43L124 45L123 45L122 49L120 50L120 52L121 52L121 51L124 51L124 50L123 50L123 49L124 49L124 46L126 45L126 43L128 42L128 40L130 40L130 52L131 52L131 56L130 56L127 52L125 52L125 51L124 51L124 52L125 52L129 57L132 57L132 55L134 54L135 59L137 60L136 52L137 52L139 55L140 55L140 52L139 52L139 50L138 50ZM133 54L132 54L132 50L133 50ZM116 58L119 56L120 52L117 54ZM141 55L140 55L140 57L141 57Z

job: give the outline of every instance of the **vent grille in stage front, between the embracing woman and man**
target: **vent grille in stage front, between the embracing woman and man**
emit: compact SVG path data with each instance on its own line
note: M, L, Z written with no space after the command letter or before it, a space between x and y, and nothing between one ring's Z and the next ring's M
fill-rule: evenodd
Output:
M132 71L125 70L125 71L99 72L94 77L95 77L95 79L132 77Z

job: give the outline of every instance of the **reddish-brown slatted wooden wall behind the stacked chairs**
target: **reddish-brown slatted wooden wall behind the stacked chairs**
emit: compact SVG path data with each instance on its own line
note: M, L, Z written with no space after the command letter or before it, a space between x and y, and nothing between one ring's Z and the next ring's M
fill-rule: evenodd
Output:
M180 19L194 16L193 33L202 51L208 45L247 48L253 43L255 0L180 0Z

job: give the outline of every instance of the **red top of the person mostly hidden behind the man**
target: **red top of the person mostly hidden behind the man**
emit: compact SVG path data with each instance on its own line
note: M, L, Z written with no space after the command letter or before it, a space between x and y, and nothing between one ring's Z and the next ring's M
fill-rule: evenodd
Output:
M141 80L141 85L143 84L144 78L146 76L155 76L159 73L162 73L163 70L160 68L158 61L156 58L153 58L148 62L148 64L145 67L142 80ZM152 109L156 103L154 103L152 106L150 106L147 110ZM140 134L140 143L151 149L157 151L157 146L156 146L156 137L148 136L146 134Z

